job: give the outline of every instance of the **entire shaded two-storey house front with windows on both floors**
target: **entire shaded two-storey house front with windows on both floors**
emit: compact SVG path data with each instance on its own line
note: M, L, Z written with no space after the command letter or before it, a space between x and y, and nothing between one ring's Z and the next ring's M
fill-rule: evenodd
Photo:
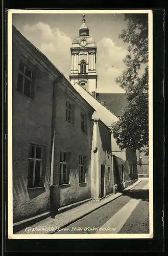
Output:
M13 222L90 198L94 109L15 27L12 108Z

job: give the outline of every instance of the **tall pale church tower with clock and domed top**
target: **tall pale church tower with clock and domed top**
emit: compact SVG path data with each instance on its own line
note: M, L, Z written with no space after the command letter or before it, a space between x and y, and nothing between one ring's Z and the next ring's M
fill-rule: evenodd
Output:
M83 14L82 17L79 36L74 39L70 48L72 62L69 79L71 84L78 82L94 96L98 78L95 70L97 47L94 39L89 36L85 15Z

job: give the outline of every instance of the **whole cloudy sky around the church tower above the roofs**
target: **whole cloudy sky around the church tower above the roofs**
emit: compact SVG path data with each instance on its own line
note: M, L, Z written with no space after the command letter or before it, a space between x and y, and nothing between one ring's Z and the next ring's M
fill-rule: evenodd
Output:
M100 93L124 93L115 78L125 69L127 45L118 38L127 27L124 14L86 14L86 25L97 45ZM32 42L69 80L71 43L79 35L82 14L12 14L12 24Z

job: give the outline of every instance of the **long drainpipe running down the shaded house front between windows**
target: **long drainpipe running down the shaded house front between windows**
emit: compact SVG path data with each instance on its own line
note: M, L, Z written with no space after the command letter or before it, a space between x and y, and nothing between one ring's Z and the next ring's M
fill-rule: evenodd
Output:
M53 83L53 110L52 110L52 145L51 145L51 172L50 172L50 216L51 218L55 218L58 207L54 204L54 150L55 150L55 124L56 124L56 83L60 81L60 77L58 77Z

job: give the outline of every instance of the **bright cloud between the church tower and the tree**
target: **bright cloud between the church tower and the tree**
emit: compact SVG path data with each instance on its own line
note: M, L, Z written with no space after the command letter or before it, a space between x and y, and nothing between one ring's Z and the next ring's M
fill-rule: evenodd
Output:
M100 92L124 92L115 82L115 78L122 74L125 69L123 59L127 51L118 47L108 37L103 37L98 43L97 51L97 73L98 73L98 90Z

